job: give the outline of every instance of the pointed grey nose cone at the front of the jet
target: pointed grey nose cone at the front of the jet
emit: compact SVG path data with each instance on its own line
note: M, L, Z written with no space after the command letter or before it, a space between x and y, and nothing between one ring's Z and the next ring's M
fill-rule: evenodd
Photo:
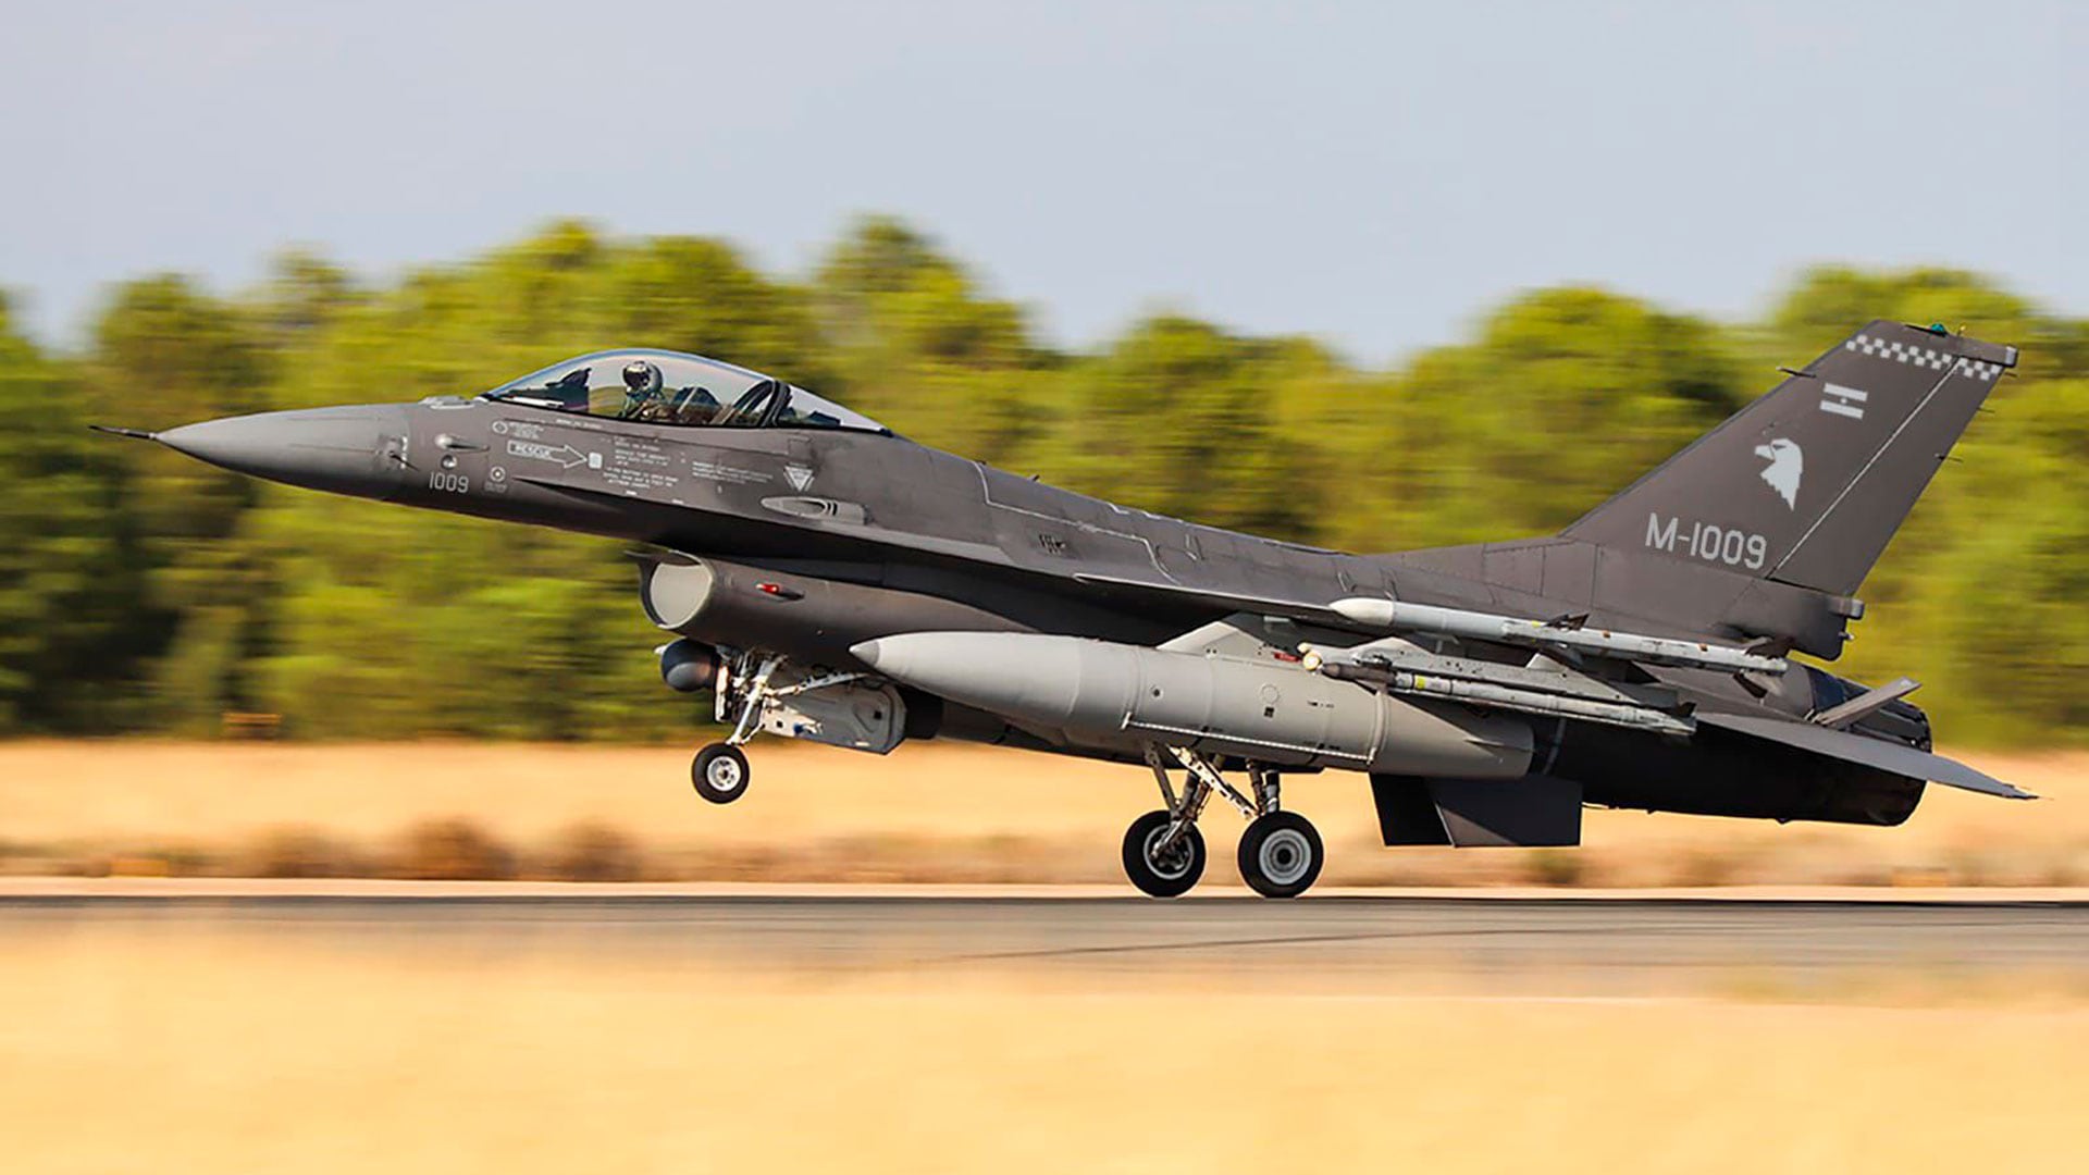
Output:
M405 433L403 408L372 404L203 420L159 433L159 443L286 485L391 498L403 479Z

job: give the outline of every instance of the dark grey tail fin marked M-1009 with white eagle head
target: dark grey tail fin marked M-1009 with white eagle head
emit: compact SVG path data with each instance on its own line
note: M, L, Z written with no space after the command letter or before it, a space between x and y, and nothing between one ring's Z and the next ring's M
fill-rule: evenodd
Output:
M1851 596L2016 347L1872 322L1563 531Z

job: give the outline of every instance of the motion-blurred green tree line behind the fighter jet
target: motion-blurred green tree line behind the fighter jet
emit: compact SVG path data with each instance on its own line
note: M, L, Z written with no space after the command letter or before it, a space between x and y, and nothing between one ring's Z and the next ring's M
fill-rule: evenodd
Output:
M261 485L88 422L476 393L602 347L719 355L923 443L1343 550L1554 531L1870 318L2024 349L1865 585L1838 665L1907 671L1949 740L2089 738L2089 322L1980 278L1824 268L1761 322L1596 289L1364 370L1180 314L1070 353L919 232L863 220L804 280L729 243L556 224L372 289L309 253L217 297L115 289L84 353L0 303L0 732L666 738L618 544Z

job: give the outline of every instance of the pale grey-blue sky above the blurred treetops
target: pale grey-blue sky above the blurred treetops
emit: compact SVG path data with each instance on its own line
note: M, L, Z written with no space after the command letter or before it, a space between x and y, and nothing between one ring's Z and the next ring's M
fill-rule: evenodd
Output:
M1360 362L1519 289L1713 318L1947 263L2089 314L2089 6L6 0L0 289L368 280L551 217L808 272L928 230L1061 345L1184 309ZM643 341L633 341L643 343Z

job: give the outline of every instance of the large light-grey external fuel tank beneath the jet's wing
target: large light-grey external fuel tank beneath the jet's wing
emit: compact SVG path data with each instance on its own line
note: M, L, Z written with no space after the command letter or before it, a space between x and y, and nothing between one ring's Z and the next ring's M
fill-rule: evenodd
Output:
M1078 746L1182 746L1287 767L1521 778L1531 728L1297 663L1074 636L915 631L850 652L877 675Z

